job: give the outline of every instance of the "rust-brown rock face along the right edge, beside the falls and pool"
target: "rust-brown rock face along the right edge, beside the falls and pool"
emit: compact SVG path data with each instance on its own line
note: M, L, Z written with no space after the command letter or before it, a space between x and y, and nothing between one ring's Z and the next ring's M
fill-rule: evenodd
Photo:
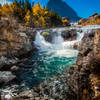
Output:
M68 85L78 100L99 100L100 30L85 35L79 51L77 63L70 69L67 77Z

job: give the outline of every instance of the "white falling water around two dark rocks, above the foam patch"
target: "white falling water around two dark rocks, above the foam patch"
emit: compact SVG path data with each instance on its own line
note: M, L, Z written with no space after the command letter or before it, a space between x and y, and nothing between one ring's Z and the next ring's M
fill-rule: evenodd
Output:
M57 31L57 30L56 30ZM73 49L74 43L80 41L84 33L77 32L77 39L74 41L64 41L63 37L61 36L61 31L57 32L58 34L53 38L53 43L49 43L45 40L45 38L41 35L41 31L37 32L36 39L35 39L35 45L40 50L48 50L48 49Z

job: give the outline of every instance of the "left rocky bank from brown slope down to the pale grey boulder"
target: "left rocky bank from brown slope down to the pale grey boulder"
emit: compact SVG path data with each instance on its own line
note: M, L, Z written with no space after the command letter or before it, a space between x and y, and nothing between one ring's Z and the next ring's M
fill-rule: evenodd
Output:
M33 28L0 20L0 84L14 80L23 62L36 50L35 34Z

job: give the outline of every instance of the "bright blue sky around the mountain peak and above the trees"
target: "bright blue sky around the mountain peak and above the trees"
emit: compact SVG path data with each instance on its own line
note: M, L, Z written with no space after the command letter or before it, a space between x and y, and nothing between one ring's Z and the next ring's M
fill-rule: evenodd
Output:
M5 0L0 0L1 3L3 3L4 1ZM30 2L33 1L35 1L35 3L40 2L42 5L45 5L48 2L48 0L30 0ZM65 1L70 7L72 7L77 12L79 17L88 18L95 12L100 14L100 0L63 0L63 1Z

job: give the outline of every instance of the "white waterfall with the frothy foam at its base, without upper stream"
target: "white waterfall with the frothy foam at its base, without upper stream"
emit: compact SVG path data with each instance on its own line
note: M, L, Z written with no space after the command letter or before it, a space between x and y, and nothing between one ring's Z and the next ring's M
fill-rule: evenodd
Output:
M76 42L80 41L84 32L77 32L77 39L74 41L64 41L61 33L64 29L54 29L53 32L56 31L57 34L52 37L52 43L49 43L45 40L45 38L41 35L41 31L37 32L35 45L39 49L39 51L47 51L46 53L53 54L55 56L63 56L63 57L75 57L78 54L78 51L73 49L73 46Z

